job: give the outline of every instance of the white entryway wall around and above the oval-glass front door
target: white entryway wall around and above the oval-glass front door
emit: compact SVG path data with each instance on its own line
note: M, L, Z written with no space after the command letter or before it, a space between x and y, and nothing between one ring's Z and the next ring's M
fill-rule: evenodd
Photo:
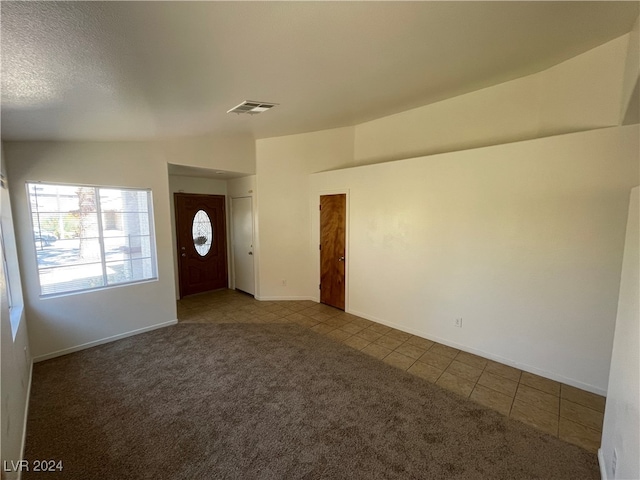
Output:
M173 245L173 268L175 271L176 298L180 298L180 286L178 278L178 243L176 238L176 206L174 193L202 193L205 195L227 195L226 180L216 180L206 177L185 177L182 175L169 175L170 209L171 209L171 243ZM227 249L229 249L229 206L226 205ZM229 258L229 255L227 255ZM228 261L228 260L227 260Z

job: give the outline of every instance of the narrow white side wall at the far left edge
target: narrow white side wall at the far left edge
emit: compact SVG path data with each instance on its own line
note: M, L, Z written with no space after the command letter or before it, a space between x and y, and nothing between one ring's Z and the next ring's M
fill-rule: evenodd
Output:
M6 176L4 153L0 148L0 166L2 174ZM0 353L2 396L2 433L0 434L1 461L17 462L22 459L24 449L24 435L29 405L29 390L31 386L31 352L29 350L29 336L27 322L24 315L20 272L17 264L17 249L13 230L11 201L7 188L0 190L2 204L2 236L4 249L0 245L0 254L6 255L9 279L5 278L4 269L0 268L1 284L1 325L0 325ZM12 308L9 310L7 281L11 281ZM17 329L12 327L17 326ZM15 336L14 336L15 331ZM17 472L8 472L7 480L17 478Z

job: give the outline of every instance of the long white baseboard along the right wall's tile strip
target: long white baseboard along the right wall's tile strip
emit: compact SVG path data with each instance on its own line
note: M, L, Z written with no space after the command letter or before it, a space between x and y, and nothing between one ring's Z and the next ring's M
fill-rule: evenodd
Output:
M456 348L458 350L462 350L462 351L465 351L465 352L468 352L468 353L473 353L473 354L478 355L480 357L488 358L489 360L493 360L495 362L499 362L499 363L502 363L504 365L508 365L510 367L517 368L518 370L523 370L525 372L533 373L535 375L540 375L541 377L545 377L545 378L548 378L550 380L555 380L556 382L564 383L565 385L570 385L572 387L579 388L580 390L585 390L587 392L595 393L596 395L602 395L602 396L606 396L607 395L607 391L606 390L598 388L598 387L596 387L594 385L590 385L588 383L579 382L579 381L576 381L576 380L574 380L572 378L567 378L567 377L564 377L562 375L558 375L558 374L553 373L553 372L547 372L547 371L539 369L537 367L532 367L531 365L514 362L513 360L501 357L500 355L495 355L495 354L493 354L491 352L485 352L483 350L470 348L470 347L468 347L466 345L455 343L455 342L452 342L452 341L444 339L444 338L436 337L434 335L429 335L429 334L427 334L425 332L421 332L421 331L413 329L413 328L407 328L407 327L405 327L403 325L398 325L398 324L396 324L394 322L389 322L389 321L384 320L382 318L376 318L376 317L373 317L371 315L367 315L366 313L357 312L357 311L354 311L354 310L350 310L348 313L351 313L352 315L356 315L358 317L366 318L367 320L371 320L372 322L381 323L383 325L395 328L397 330L402 330L403 332L406 332L406 333L411 333L413 335L417 335L419 337L426 338L426 339L431 340L433 342L438 342L438 343L441 343L443 345L447 345L449 347Z

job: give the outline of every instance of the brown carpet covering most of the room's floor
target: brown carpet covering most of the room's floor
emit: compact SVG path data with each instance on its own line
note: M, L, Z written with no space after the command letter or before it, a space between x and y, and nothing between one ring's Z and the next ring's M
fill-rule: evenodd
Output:
M69 479L597 479L596 457L297 325L179 324L35 365Z

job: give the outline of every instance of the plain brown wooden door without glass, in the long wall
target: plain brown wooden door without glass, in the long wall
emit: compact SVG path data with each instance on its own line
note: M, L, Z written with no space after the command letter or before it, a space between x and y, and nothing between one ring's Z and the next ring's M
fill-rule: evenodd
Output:
M347 196L320 196L320 302L344 310Z

